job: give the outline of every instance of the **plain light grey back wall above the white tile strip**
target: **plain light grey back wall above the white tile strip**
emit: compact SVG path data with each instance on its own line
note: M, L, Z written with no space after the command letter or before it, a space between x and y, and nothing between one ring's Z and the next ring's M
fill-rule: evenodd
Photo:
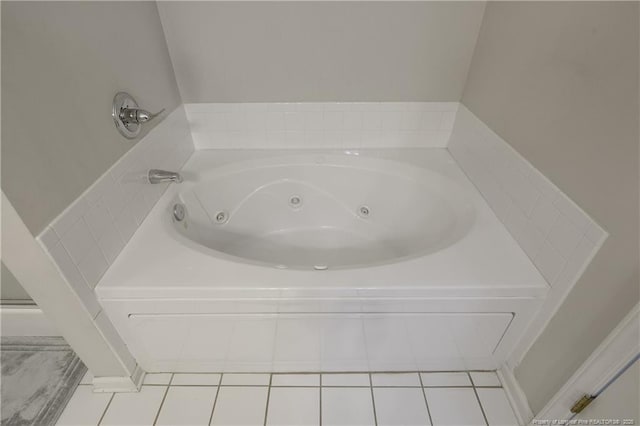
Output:
M159 2L193 102L458 101L484 2Z

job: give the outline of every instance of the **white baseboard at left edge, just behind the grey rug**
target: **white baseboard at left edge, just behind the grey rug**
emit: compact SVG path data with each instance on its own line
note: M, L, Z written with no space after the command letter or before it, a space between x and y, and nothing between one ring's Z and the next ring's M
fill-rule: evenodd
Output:
M3 336L60 336L60 332L35 305L0 306Z

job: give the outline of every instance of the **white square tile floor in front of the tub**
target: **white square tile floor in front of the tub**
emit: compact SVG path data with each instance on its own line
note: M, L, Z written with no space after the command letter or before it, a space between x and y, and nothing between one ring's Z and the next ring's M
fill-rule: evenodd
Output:
M148 374L139 393L93 393L58 425L491 425L516 417L494 372Z

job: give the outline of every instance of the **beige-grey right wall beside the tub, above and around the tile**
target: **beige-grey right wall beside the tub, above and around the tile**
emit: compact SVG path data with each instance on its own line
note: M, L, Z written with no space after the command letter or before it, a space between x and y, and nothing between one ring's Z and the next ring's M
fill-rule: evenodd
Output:
M610 234L516 369L540 410L640 298L638 3L490 2L462 102Z

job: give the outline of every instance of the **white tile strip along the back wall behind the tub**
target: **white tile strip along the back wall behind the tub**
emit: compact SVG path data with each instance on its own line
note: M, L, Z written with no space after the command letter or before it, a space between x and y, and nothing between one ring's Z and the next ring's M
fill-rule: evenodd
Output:
M197 149L445 147L457 102L186 104Z

